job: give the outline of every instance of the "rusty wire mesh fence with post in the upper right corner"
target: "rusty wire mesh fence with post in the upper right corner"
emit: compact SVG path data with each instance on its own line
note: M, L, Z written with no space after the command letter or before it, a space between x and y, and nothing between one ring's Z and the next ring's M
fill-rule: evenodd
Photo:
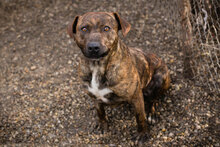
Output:
M186 74L195 84L220 92L220 1L182 0Z

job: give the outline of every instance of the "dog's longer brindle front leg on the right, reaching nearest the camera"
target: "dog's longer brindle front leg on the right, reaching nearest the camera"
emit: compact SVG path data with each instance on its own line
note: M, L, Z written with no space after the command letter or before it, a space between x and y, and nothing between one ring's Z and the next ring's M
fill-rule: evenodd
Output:
M137 131L138 134L134 137L139 143L144 143L149 136L149 128L146 120L146 113L144 108L144 97L142 92L138 92L133 101L136 111Z

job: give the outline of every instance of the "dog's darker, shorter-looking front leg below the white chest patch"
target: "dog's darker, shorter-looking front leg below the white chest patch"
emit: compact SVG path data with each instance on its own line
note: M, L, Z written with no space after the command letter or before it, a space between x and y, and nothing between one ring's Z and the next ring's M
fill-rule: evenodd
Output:
M104 105L102 103L96 103L96 112L98 114L99 124L97 125L102 133L108 131L108 121L105 114Z

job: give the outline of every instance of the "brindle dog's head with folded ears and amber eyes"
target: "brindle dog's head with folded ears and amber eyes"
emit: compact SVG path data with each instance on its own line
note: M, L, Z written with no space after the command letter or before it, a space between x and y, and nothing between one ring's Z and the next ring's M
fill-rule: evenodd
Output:
M118 31L126 36L131 25L118 13L89 12L76 16L67 32L74 38L84 56L101 59L117 46Z

